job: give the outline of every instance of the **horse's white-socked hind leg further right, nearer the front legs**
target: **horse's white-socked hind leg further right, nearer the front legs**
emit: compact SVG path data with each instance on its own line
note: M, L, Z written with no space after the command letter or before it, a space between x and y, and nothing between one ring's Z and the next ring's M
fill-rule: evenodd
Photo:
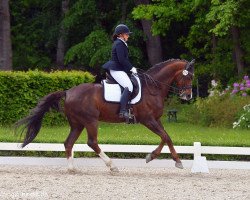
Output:
M92 122L86 125L87 133L88 133L88 146L92 148L95 153L100 156L100 158L104 161L107 167L113 172L118 172L118 168L114 165L112 160L100 149L97 141L97 128L98 122Z

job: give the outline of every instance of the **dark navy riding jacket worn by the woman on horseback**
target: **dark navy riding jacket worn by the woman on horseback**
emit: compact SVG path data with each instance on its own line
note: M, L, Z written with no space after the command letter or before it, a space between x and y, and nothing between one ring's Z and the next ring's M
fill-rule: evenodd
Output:
M106 62L102 68L129 73L132 67L128 59L127 45L122 40L116 39L112 46L111 60Z

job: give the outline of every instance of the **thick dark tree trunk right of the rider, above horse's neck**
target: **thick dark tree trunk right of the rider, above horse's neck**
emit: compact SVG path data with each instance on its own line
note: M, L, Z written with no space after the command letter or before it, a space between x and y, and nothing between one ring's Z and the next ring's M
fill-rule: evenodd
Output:
M136 5L149 4L149 0L135 0ZM145 33L147 55L149 63L155 65L162 61L162 48L160 36L153 36L151 33L152 21L151 20L141 20L143 32Z

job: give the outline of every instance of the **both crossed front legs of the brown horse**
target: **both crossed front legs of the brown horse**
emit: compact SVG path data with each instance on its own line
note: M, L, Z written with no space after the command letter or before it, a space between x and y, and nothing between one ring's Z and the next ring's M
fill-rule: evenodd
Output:
M148 154L146 156L146 162L148 163L151 160L157 158L160 155L163 146L167 143L169 150L171 152L171 155L173 157L173 160L176 162L175 166L180 168L180 169L183 169L182 163L180 161L178 154L175 151L172 140L169 137L169 135L167 134L167 132L164 130L160 120L151 119L143 124L148 129L150 129L151 131L153 131L154 133L156 133L157 135L159 135L161 137L161 143L151 154Z

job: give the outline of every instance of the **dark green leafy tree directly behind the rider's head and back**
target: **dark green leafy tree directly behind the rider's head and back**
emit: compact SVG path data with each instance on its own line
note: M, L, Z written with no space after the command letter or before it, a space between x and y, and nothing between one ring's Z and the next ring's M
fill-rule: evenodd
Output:
M131 61L135 66L143 66L140 49L142 34L126 14L131 11L133 1L113 0L112 4L107 2L110 1L76 0L72 4L64 19L64 24L69 30L69 39L72 33L77 32L82 33L83 37L77 37L78 41L74 42L71 40L72 43L65 55L65 64L81 66L97 74L96 71L100 71L100 67L110 59L111 35L114 28L120 23L125 23L133 31L133 36L128 42Z

